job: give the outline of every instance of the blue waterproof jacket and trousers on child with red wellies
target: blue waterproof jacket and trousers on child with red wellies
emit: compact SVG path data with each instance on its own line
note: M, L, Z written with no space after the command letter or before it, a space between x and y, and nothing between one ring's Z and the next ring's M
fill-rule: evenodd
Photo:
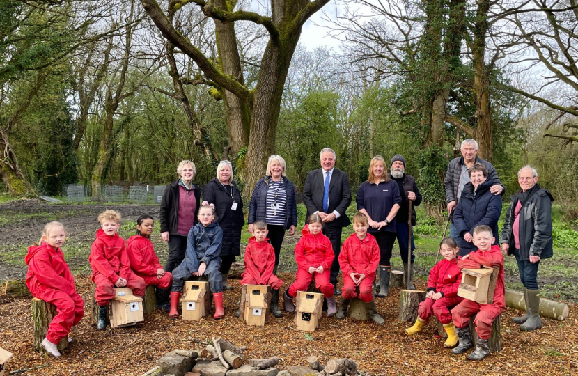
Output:
M173 270L171 291L182 291L183 281L190 279L198 272L198 266L205 263L207 277L212 292L223 291L221 279L221 243L223 230L219 224L212 223L205 227L200 222L193 226L187 235L187 253L185 260Z

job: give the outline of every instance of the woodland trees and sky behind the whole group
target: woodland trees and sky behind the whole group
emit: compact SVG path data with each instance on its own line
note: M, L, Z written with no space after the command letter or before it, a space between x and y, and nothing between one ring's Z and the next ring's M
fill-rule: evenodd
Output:
M339 47L307 49L326 4ZM472 137L507 194L533 164L575 225L577 26L576 0L0 0L0 189L99 198L181 159L203 185L228 158L247 197L272 152L302 187L330 147L353 191L404 155L439 218Z

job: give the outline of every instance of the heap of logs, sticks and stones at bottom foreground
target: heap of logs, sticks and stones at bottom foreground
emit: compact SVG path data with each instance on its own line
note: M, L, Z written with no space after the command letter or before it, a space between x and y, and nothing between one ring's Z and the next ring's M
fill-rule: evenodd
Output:
M211 342L193 339L203 345L194 350L173 350L159 359L158 366L143 376L201 375L201 376L354 376L361 375L352 359L329 359L325 366L318 357L311 355L303 365L288 366L279 370L279 357L248 359L243 352L246 346L237 346L222 338Z

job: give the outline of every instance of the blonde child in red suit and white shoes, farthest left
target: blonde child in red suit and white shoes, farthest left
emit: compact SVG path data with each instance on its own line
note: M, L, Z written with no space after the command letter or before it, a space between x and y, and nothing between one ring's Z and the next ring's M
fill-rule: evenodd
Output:
M53 357L60 357L58 343L84 315L84 301L75 288L75 279L64 260L61 246L66 240L62 224L50 222L42 230L41 245L29 247L26 255L26 286L33 297L56 306L42 347ZM68 338L70 342L70 338Z

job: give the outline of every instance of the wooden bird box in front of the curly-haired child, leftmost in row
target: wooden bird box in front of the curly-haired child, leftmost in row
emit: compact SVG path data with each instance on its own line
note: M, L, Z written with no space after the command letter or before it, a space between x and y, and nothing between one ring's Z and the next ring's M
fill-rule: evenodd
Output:
M143 298L132 295L130 288L115 288L111 300L111 328L130 327L144 321Z

